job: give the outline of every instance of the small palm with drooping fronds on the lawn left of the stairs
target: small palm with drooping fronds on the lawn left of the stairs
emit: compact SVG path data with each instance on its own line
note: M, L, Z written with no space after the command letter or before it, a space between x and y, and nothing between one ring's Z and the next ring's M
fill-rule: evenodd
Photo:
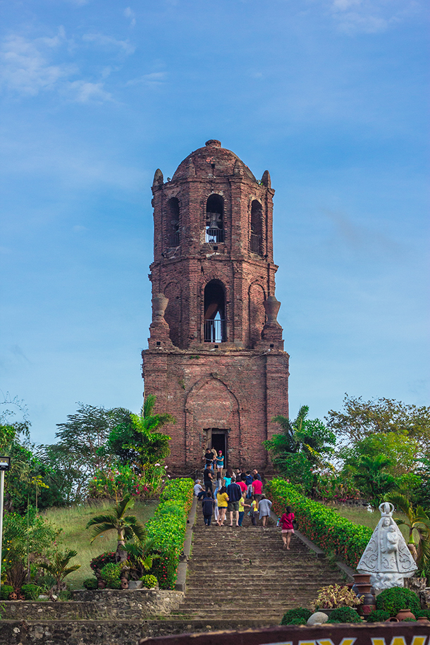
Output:
M87 524L87 529L94 527L91 534L91 542L106 531L116 531L118 534L118 546L116 547L116 562L127 560L125 540L137 537L141 542L145 540L146 531L143 524L137 521L135 515L125 515L125 512L133 508L135 500L126 495L125 498L113 507L111 515L96 515Z

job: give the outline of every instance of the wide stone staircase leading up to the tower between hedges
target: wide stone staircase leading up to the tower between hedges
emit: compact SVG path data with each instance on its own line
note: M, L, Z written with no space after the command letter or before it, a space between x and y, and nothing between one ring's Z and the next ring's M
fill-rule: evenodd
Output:
M235 622L276 625L295 607L310 608L318 589L344 582L342 573L293 536L282 548L281 529L243 526L205 527L197 504L186 595L171 619L206 621L230 628ZM218 624L218 625L217 625Z

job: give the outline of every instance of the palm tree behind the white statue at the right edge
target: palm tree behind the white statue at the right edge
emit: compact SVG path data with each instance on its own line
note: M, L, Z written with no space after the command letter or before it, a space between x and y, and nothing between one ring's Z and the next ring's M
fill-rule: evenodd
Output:
M419 566L424 569L430 561L429 513L422 506L413 508L410 500L401 493L387 493L385 499L406 516L406 519L395 517L394 520L399 527L407 527L409 531L407 547L412 553L415 562L419 563Z

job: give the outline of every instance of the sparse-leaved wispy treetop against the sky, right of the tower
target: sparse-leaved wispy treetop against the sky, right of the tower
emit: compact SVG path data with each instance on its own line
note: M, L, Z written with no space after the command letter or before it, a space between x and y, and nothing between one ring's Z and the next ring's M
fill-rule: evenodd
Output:
M388 398L364 401L361 396L345 394L343 411L330 410L326 422L336 436L349 442L395 432L419 441L422 450L430 450L430 406L417 407Z

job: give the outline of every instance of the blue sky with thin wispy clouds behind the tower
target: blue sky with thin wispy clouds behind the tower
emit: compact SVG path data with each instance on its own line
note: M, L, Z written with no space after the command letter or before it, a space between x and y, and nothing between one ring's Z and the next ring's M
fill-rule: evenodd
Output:
M0 2L0 388L137 412L150 185L211 138L276 189L290 414L429 404L424 0Z

